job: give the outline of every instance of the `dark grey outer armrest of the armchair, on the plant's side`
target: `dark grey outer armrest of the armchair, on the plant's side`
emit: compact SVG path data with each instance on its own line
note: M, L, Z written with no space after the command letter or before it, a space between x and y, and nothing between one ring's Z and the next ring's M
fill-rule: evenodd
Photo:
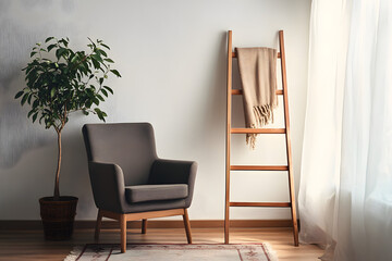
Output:
M88 162L94 201L99 209L123 212L124 174L118 164Z

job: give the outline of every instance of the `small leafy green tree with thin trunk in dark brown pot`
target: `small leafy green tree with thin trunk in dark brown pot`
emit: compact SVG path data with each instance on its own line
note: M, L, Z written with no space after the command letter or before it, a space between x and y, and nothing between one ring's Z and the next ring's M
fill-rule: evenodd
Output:
M88 38L89 39L89 38ZM58 138L58 162L52 197L39 199L40 214L47 239L68 239L72 236L77 198L60 196L61 134L70 114L82 111L85 115L97 114L105 121L107 114L98 105L113 90L103 82L110 74L121 77L111 69L107 50L101 40L89 39L88 52L74 51L69 38L48 37L45 44L36 44L30 53L33 59L26 67L26 87L15 99L30 105L27 117L38 121L46 128L52 127Z

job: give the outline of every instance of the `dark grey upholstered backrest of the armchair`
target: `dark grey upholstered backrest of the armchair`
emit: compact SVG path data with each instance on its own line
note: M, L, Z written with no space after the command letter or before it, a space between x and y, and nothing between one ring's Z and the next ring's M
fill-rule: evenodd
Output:
M118 164L125 186L147 184L157 159L151 124L85 124L83 136L88 161Z

